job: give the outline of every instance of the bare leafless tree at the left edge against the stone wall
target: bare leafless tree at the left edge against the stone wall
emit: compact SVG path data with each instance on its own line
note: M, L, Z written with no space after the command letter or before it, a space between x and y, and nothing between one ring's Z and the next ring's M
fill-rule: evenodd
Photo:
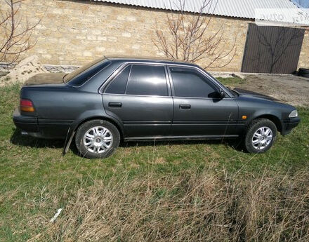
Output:
M14 64L20 55L32 48L34 25L29 25L20 14L20 6L25 0L0 0L0 62Z

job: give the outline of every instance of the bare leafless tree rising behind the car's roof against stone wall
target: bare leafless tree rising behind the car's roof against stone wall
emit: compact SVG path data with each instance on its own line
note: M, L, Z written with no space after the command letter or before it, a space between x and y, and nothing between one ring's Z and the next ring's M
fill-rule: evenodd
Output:
M199 13L185 12L185 0L173 3L178 11L166 13L166 32L156 22L152 42L167 58L202 62L203 67L221 68L230 64L235 56L236 37L230 48L225 48L223 25L210 34L211 18L218 0L203 0ZM172 6L171 2L170 5ZM171 8L172 9L172 8ZM211 11L212 10L212 11ZM205 15L209 13L208 15Z

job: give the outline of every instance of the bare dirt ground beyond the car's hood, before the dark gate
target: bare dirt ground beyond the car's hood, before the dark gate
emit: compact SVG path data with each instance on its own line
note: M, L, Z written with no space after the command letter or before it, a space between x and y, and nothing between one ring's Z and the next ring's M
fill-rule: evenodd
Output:
M230 86L270 95L291 105L309 106L309 79L301 76L250 74L244 83Z

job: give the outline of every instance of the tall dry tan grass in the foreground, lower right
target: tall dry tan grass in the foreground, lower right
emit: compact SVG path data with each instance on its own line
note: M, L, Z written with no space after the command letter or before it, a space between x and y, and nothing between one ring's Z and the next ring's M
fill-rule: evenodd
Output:
M246 180L210 174L96 181L32 241L309 240L308 170Z

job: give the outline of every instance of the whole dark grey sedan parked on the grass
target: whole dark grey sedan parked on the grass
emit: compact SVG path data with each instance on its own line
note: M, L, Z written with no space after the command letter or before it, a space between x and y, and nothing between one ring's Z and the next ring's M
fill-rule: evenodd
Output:
M13 121L24 135L64 139L65 152L74 139L83 156L104 158L121 140L241 137L249 152L265 152L300 119L295 107L226 88L197 65L102 58L29 79Z

